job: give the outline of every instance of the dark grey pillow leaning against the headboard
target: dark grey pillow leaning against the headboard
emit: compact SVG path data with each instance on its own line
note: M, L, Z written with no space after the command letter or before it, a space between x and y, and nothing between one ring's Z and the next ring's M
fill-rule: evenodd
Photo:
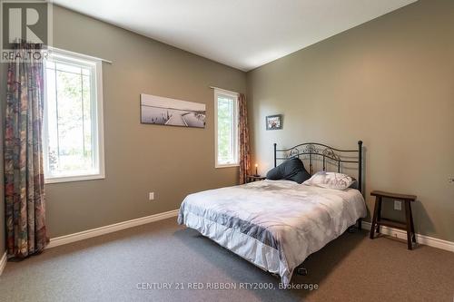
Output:
M311 174L304 168L302 161L296 157L282 162L266 173L267 180L292 180L302 183L310 178Z

